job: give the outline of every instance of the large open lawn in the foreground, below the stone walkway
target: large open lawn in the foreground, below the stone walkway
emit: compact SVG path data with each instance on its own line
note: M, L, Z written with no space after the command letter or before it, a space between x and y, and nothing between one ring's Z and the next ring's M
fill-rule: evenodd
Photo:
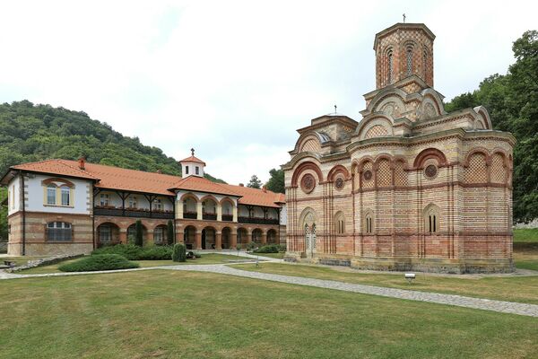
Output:
M208 273L15 279L0 296L12 359L538 355L534 318Z

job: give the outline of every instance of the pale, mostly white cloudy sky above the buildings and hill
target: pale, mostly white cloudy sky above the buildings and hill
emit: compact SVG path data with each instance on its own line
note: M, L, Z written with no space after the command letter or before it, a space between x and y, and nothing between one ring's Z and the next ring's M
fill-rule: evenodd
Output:
M524 1L2 1L0 102L82 110L232 184L290 160L298 128L360 120L375 34L424 22L447 100L514 63Z

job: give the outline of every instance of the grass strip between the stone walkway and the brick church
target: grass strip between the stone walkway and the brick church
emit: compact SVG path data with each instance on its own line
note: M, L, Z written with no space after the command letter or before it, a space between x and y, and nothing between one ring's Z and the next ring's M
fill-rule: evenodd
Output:
M461 276L428 276L419 273L412 285L409 285L404 280L403 274L358 273L346 267L317 267L278 263L263 263L260 267L253 264L240 264L232 267L285 276L304 276L361 285L377 285L538 304L538 276L470 276L462 278Z

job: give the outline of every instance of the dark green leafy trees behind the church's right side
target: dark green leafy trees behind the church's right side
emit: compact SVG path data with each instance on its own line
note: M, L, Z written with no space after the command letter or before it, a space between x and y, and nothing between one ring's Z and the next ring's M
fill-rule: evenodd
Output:
M516 63L508 74L493 74L478 90L456 96L451 110L482 104L494 129L516 136L514 147L514 222L538 218L538 31L526 31L512 47Z

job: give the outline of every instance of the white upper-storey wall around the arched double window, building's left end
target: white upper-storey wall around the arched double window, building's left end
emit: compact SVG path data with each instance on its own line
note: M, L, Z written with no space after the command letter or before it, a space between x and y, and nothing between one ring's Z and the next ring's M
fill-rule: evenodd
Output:
M89 215L90 210L88 203L91 204L91 181L65 179L74 183L74 206L45 206L43 203L43 186L41 182L48 180L53 176L28 174L24 180L24 185L28 191L26 201L26 210L35 212L61 213L73 215ZM55 178L61 178L54 176Z

